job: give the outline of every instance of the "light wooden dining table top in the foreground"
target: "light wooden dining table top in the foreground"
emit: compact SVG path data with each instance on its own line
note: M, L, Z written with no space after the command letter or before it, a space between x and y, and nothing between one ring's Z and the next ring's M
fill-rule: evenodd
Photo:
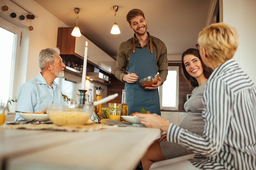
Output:
M134 170L156 128L112 126L95 131L0 128L0 170Z

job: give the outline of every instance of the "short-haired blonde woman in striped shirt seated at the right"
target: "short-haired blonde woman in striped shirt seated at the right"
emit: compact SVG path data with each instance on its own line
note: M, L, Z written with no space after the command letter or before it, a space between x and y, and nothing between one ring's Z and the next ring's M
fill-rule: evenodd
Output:
M256 87L232 59L238 42L236 29L225 23L211 24L198 35L202 61L213 69L203 93L202 135L155 114L137 114L146 127L166 131L167 141L196 153L193 159L180 159L157 170L256 169Z

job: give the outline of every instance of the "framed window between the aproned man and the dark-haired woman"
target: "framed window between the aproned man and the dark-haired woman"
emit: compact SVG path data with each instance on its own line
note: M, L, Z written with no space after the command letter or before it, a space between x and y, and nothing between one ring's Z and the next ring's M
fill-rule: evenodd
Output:
M168 66L168 75L159 86L160 108L178 110L179 108L179 66Z

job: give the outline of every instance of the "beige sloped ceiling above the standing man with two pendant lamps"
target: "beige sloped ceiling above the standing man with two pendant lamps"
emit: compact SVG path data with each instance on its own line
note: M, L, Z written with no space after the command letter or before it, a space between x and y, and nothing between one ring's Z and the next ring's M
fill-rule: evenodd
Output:
M134 34L126 21L126 14L131 9L144 12L147 31L166 44L168 55L180 55L188 48L195 48L198 33L211 22L213 6L216 5L215 0L34 1L70 27L76 25L74 8L80 8L78 26L81 32L113 58L116 58L119 44ZM119 6L116 16L121 30L119 35L110 34L115 22L111 9L114 5Z

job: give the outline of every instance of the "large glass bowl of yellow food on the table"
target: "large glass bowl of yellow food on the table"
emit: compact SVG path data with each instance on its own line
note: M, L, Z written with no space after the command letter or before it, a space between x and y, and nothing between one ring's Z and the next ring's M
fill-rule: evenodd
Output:
M94 113L93 105L78 105L75 103L51 104L46 106L49 119L57 126L87 125L93 123L90 119ZM92 121L90 123L90 121Z

